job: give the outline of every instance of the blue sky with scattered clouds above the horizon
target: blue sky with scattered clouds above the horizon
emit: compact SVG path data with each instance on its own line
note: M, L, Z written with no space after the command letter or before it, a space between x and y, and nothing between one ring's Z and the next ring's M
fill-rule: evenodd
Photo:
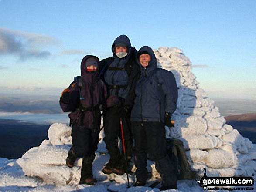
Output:
M121 34L183 50L210 98L256 99L255 0L0 0L0 94L60 94Z

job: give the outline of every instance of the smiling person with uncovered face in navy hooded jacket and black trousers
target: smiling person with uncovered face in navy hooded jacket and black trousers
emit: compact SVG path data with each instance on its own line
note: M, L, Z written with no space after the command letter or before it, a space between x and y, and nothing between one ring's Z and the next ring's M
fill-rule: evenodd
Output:
M177 189L174 166L166 151L164 125L171 126L171 115L176 109L177 84L171 71L157 68L154 51L147 46L137 53L140 78L134 88L131 111L134 138L136 182L143 186L147 179L147 153L155 161L163 179L162 190Z

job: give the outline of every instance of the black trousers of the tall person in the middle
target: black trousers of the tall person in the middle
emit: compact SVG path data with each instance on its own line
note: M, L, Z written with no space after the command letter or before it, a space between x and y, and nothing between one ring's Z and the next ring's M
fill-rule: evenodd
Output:
M118 147L119 139L122 141L120 118L117 114L117 107L108 108L103 115L104 119L104 132L105 138L103 139L106 143L106 148L109 151L111 166L120 166L123 163L123 144L121 148ZM123 125L123 136L124 144L126 149L126 155L133 154L133 138L130 128L130 118L121 118Z

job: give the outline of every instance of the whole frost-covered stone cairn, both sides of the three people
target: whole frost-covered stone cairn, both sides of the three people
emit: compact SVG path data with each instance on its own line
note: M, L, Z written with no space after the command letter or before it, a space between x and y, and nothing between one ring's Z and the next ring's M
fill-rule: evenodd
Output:
M179 88L177 110L172 116L175 127L166 127L166 136L183 141L192 168L197 169L201 176L203 168L207 168L209 176L255 174L256 145L225 124L214 101L199 88L195 75L191 73L188 57L175 47L160 47L154 52L159 67L173 72ZM39 147L31 148L17 163L25 175L42 178L47 184L78 185L82 159L73 168L65 165L72 144L71 128L55 123L49 128L48 137L49 140L43 141ZM109 156L104 155L107 150L102 140L103 132L100 138L93 174L98 181L104 181L109 175L104 175L101 169ZM151 168L153 176L156 176L154 165ZM126 176L117 176L115 179L125 182Z

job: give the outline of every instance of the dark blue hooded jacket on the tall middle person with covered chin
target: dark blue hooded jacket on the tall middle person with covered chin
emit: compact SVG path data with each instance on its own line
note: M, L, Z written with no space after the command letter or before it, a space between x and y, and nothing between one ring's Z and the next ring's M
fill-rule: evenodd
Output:
M120 59L116 56L116 43L123 43L127 45L126 57ZM129 83L129 74L127 71L129 70L129 68L133 70L133 66L138 67L135 58L133 58L133 52L135 49L133 49L133 47L131 46L130 40L126 35L120 35L119 37L117 37L112 44L111 49L113 57L101 61L101 65L104 65L103 68L106 67L106 71L103 74L103 80L108 86L109 95L116 95L118 97L126 99L126 96L129 92L129 86L127 86ZM106 60L107 63L105 63ZM121 87L116 88L114 86Z

